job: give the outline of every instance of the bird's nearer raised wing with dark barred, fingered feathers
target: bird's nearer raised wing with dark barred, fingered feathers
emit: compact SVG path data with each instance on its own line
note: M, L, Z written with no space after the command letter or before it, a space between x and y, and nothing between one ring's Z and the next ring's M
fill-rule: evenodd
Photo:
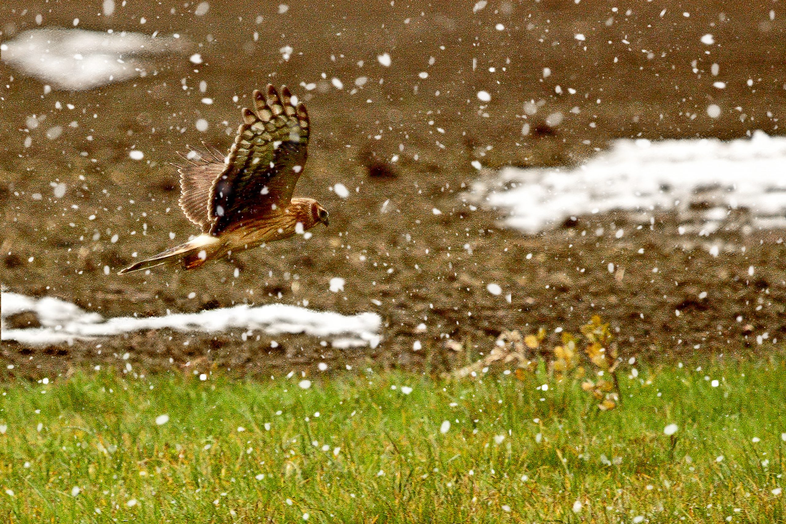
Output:
M243 123L211 187L207 205L214 236L244 218L288 206L306 163L306 106L294 107L286 86L281 96L270 84L266 93L255 90L253 96L255 111L243 109Z

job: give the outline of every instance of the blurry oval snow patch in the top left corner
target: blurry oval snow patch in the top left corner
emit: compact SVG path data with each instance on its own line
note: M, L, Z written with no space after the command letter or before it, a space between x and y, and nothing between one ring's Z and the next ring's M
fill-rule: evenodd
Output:
M54 27L24 31L2 44L2 60L57 90L83 91L152 73L153 60L182 54L182 38Z

